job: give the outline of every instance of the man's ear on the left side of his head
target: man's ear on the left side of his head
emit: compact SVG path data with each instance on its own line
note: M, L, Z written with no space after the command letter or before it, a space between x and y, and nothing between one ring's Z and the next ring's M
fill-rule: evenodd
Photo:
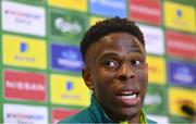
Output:
M86 86L90 90L94 90L95 87L94 87L94 83L93 83L93 79L91 79L91 75L90 75L89 70L86 66L83 66L83 69L82 69L82 76L83 76L83 79L84 79Z

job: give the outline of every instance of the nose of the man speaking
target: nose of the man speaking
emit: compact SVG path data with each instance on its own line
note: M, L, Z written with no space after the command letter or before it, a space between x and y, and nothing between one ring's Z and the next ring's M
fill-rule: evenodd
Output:
M130 78L134 78L135 74L133 69L128 64L123 64L118 72L118 77L121 80L127 80Z

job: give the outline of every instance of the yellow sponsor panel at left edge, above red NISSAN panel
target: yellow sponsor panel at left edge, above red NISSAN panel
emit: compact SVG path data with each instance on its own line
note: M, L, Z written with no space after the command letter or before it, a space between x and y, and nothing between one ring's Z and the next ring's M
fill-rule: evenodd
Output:
M46 41L14 35L3 35L3 63L8 65L47 67Z

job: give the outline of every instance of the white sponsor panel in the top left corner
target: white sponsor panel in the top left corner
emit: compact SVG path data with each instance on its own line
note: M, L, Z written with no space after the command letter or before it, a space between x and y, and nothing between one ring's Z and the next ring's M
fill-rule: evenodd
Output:
M46 35L45 9L2 1L2 28L13 33Z

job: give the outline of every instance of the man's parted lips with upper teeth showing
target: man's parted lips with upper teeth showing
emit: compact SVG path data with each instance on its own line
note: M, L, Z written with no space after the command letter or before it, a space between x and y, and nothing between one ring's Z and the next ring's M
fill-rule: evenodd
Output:
M125 95L127 92L132 92L133 95ZM122 87L117 90L115 99L124 106L137 106L140 102L139 90L135 87Z

